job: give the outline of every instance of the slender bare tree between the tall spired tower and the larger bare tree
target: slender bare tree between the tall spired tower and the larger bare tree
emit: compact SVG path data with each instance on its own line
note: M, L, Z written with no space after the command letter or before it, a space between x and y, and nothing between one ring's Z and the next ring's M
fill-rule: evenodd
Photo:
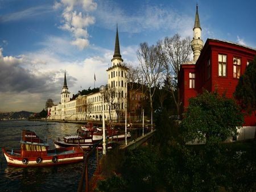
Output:
M158 49L159 46L148 46L147 43L141 43L137 51L137 58L141 64L142 73L146 78L146 83L148 85L148 96L151 108L151 128L153 126L153 97L163 72L163 64L162 62L159 62L156 54Z

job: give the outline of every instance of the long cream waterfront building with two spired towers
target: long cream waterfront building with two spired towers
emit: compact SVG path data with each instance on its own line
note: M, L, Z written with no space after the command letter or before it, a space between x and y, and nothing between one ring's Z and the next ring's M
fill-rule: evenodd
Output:
M105 93L105 119L116 120L124 114L127 105L127 68L123 65L120 54L118 29L115 35L115 49L112 66L106 71L108 73L108 84ZM81 95L71 101L68 91L66 73L64 74L64 85L61 90L61 101L58 105L51 107L51 116L54 120L101 120L102 119L102 95L100 92ZM110 110L109 110L110 109Z

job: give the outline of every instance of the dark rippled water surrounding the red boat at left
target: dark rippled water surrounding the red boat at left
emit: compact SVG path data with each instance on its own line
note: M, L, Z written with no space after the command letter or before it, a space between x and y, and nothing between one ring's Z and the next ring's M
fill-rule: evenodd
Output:
M83 163L51 166L46 168L16 168L7 166L2 147L19 148L24 128L44 135L53 147L53 140L76 132L81 124L0 121L0 191L77 191ZM89 177L96 169L96 156L89 160Z

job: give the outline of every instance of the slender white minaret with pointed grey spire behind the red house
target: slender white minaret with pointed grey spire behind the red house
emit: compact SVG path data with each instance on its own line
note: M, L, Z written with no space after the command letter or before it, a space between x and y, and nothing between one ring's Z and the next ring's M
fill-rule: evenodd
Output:
M203 49L203 40L201 40L201 27L200 27L200 20L199 20L199 14L198 14L198 6L196 5L196 18L195 18L195 24L193 28L193 40L191 41L191 48L193 50L194 54L194 61L197 61L197 59L200 56L201 50Z

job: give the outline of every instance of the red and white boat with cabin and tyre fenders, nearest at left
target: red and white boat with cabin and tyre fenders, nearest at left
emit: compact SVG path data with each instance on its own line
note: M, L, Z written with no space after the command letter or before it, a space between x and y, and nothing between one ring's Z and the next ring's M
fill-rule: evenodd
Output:
M2 148L2 151L8 165L20 167L69 164L84 158L80 147L49 149L49 145L30 130L22 131L19 150Z

